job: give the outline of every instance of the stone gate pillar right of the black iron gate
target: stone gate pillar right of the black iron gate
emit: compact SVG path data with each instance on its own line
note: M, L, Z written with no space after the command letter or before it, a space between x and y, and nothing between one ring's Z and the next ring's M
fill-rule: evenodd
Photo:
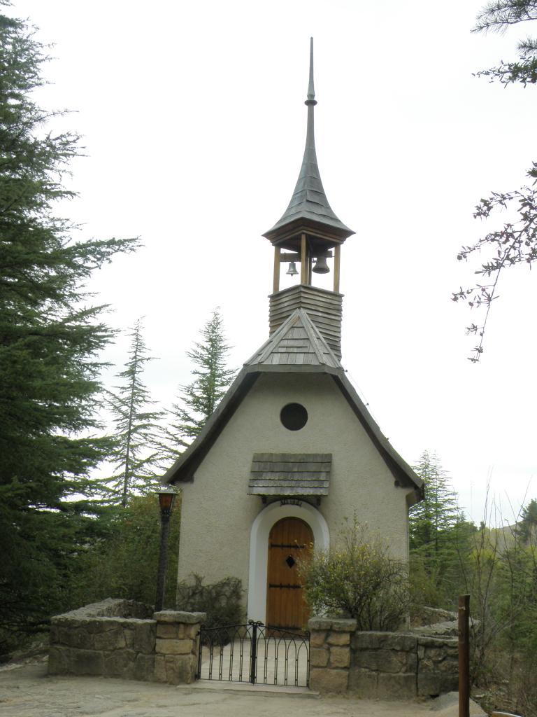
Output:
M322 693L346 693L349 688L351 635L356 620L312 617L308 622L309 686Z

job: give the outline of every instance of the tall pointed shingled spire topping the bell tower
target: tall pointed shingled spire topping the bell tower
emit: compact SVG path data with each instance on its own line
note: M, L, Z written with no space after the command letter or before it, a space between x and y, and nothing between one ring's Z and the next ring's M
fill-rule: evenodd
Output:
M335 229L343 237L349 237L350 234L354 234L352 229L346 227L332 211L328 199L326 199L326 194L324 194L321 174L319 173L319 166L317 166L314 136L314 107L317 104L317 100L315 99L314 90L313 37L310 38L309 45L309 85L305 104L308 108L308 125L306 148L304 149L299 179L296 181L293 196L291 196L291 201L284 215L274 224L272 229L263 234L264 237L271 240L276 230L300 219L321 222L321 224Z

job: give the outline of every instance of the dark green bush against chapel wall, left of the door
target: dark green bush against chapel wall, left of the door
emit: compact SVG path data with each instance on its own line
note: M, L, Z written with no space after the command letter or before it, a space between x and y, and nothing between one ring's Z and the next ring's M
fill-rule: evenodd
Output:
M206 612L205 627L240 625L244 619L242 583L227 577L211 585L203 584L203 577L193 574L192 582L180 582L177 587L177 609Z

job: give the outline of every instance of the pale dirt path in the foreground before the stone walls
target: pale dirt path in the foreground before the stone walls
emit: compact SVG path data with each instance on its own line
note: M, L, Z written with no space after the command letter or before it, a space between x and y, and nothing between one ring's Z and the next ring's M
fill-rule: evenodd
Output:
M252 688L257 689L257 688ZM0 670L1 717L456 717L456 695L440 701L237 692L92 677L48 677L46 663ZM473 706L470 714L483 713Z

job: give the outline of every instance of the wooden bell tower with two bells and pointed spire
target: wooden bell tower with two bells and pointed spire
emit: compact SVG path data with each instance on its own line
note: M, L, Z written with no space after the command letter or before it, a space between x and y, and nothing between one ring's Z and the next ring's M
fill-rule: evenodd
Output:
M263 234L274 246L274 282L270 295L270 333L289 318L297 308L308 313L319 333L341 359L342 298L339 293L339 261L345 239L354 232L332 211L326 199L314 136L313 38L309 47L309 85L305 102L308 108L306 148L289 206L272 229ZM313 285L315 274L334 273L333 290ZM280 267L289 262L288 274L299 275L299 284L280 291ZM300 272L296 264L300 264Z

